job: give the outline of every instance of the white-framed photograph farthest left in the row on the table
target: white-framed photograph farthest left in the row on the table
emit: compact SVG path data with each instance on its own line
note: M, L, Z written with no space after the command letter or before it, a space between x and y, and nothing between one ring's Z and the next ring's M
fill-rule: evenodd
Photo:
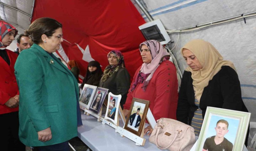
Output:
M91 105L93 96L96 92L96 89L97 89L97 86L92 86L92 85L88 85L88 84L84 85L84 88L83 88L82 93L79 98L80 108L82 108L82 109L89 108L89 106Z

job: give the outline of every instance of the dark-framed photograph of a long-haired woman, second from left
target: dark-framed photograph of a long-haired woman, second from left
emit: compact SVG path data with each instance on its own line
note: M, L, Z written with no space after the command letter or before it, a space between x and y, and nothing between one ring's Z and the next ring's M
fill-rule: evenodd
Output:
M93 101L89 108L90 111L92 111L96 114L99 114L102 104L104 102L104 99L107 95L107 92L108 92L108 89L105 89L105 88L98 87L96 89L96 93L93 97Z

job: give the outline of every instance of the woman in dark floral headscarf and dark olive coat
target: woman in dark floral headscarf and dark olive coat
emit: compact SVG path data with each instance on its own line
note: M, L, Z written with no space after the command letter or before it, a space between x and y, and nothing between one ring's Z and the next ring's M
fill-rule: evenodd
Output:
M122 95L120 105L123 109L130 86L130 74L125 68L124 56L119 50L107 54L109 65L106 66L99 87L109 89L114 95Z

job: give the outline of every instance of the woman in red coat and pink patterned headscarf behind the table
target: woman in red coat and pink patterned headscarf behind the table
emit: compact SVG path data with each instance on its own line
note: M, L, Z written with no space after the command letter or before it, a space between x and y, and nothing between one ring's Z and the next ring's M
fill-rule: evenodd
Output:
M160 42L148 40L139 45L143 64L137 69L131 83L124 114L128 115L133 98L150 101L150 110L158 120L162 117L176 119L178 80L176 68L169 61L170 55ZM148 126L144 133L150 135Z

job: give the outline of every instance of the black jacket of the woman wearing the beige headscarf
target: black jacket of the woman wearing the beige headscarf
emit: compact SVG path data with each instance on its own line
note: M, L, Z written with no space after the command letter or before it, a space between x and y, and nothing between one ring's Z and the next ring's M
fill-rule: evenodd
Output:
M184 71L178 99L177 120L189 125L197 109L192 82L191 72ZM234 69L222 66L209 81L199 104L203 118L207 106L248 112L242 100L240 82Z

